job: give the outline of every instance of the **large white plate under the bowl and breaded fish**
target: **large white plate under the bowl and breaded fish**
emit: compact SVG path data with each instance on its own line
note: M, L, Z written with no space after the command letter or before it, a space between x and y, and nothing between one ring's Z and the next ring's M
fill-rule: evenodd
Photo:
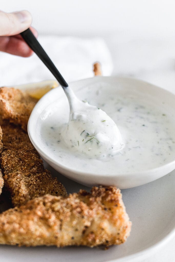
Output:
M48 168L47 164L46 167ZM88 189L63 177L51 167L69 193ZM175 171L154 182L122 190L126 211L132 221L127 242L108 250L87 247L16 247L0 245L3 262L124 262L141 261L162 247L175 233Z

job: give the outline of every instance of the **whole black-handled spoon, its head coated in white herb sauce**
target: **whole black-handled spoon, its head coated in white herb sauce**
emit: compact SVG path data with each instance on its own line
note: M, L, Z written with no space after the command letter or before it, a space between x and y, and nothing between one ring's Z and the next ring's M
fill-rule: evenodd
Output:
M76 97L29 28L21 36L54 75L68 98L70 116L62 135L69 148L93 157L112 155L122 149L121 134L114 121L103 110Z

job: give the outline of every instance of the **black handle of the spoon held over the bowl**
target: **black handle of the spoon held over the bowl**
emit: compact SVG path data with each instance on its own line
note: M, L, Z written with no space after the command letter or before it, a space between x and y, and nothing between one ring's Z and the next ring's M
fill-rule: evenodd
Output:
M50 70L50 72L54 75L56 80L60 83L60 85L64 88L67 87L68 84L55 67L49 56L44 51L43 47L40 45L36 37L33 35L31 30L28 28L20 34L28 46L37 54L37 56L41 59L41 61L46 65L46 67Z

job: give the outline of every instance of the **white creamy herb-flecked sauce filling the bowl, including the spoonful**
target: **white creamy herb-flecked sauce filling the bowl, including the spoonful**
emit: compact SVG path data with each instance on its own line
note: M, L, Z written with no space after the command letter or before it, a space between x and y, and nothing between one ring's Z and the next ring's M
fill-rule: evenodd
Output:
M78 98L97 107L82 102L86 112L77 107L70 117L66 96L46 108L40 134L50 157L74 170L105 175L141 172L173 161L174 115L164 101L109 90L104 83L78 90Z

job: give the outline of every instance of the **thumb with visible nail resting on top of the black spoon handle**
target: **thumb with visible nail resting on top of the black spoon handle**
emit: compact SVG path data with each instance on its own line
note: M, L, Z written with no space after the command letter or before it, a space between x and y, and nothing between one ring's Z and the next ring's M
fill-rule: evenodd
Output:
M29 28L31 22L32 17L28 11L0 12L0 36L17 35Z

